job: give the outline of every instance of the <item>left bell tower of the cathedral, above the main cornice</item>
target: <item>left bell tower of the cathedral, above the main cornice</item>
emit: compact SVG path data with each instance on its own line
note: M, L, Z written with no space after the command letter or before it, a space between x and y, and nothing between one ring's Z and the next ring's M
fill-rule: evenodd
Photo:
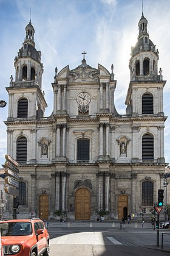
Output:
M43 65L41 51L35 48L35 29L31 20L25 27L25 38L15 57L15 79L10 77L8 121L18 119L35 120L44 116L47 107L41 91Z

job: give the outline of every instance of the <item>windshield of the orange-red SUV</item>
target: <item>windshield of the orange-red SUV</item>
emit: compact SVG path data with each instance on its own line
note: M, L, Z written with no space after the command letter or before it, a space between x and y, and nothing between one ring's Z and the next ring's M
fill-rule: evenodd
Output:
M0 230L1 236L30 235L32 226L30 222L1 222Z

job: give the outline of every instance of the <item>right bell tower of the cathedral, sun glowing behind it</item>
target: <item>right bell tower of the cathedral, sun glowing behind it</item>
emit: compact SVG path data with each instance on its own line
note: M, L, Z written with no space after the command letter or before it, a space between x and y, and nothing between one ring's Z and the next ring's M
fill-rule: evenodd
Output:
M149 39L148 20L143 13L138 22L138 41L131 48L129 69L131 82L126 96L126 114L141 116L144 114L164 116L162 70L159 69L159 52Z

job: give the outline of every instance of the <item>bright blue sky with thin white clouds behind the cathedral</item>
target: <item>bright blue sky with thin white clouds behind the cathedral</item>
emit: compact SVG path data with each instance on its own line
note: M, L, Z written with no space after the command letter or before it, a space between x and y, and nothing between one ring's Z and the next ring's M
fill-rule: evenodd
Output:
M87 64L97 68L105 66L109 71L114 64L117 88L115 106L118 113L125 114L124 104L129 86L129 59L131 46L138 36L138 21L141 18L141 0L0 0L0 99L8 103L5 87L9 77L15 77L13 60L25 38L25 26L29 23L30 8L32 25L35 28L36 49L41 51L44 65L42 90L45 91L48 107L45 116L53 109L51 83L58 71L69 65L70 69L81 64L86 51ZM160 52L158 69L163 70L164 112L169 116L170 92L170 1L143 0L144 16L148 20L149 38ZM0 108L0 164L4 163L7 133L8 105ZM170 121L165 123L165 158L170 162Z

